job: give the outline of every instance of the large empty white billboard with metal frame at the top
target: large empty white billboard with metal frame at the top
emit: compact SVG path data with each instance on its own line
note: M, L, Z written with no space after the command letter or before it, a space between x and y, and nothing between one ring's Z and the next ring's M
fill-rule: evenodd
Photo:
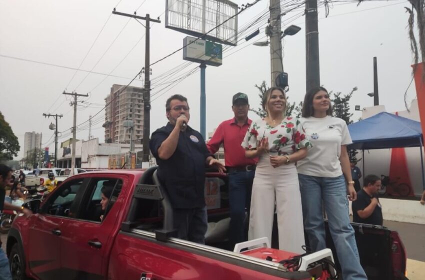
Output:
M166 0L165 27L236 45L237 12L237 4L229 0Z

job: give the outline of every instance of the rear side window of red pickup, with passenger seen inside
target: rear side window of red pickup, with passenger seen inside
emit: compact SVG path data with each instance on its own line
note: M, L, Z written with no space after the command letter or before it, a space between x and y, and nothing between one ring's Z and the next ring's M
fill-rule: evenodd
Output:
M113 207L122 188L122 180L117 178L93 178L89 182L87 192L90 193L88 199L81 204L81 219L101 222L106 218L107 213ZM107 198L102 204L101 195Z

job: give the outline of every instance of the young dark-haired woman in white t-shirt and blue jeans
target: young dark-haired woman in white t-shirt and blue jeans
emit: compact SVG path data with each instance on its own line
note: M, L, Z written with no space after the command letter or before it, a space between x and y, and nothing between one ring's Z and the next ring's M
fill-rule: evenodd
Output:
M304 230L309 248L326 247L322 201L330 235L344 280L367 279L360 265L354 230L348 216L348 199L356 199L346 145L351 137L344 120L332 116L327 90L321 86L304 97L300 118L312 148L297 163Z

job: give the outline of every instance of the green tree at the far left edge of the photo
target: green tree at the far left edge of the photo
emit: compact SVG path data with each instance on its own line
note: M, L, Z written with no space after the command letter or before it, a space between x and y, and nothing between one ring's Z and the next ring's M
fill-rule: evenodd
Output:
M13 159L13 156L17 156L19 148L19 141L16 135L0 112L0 161Z

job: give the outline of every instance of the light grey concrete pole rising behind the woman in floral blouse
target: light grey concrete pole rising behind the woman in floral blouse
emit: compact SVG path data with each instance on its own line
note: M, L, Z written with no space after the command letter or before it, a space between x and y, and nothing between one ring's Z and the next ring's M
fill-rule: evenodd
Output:
M280 0L270 0L270 24L267 35L270 36L271 86L276 86L276 77L283 72L282 39L280 29Z

